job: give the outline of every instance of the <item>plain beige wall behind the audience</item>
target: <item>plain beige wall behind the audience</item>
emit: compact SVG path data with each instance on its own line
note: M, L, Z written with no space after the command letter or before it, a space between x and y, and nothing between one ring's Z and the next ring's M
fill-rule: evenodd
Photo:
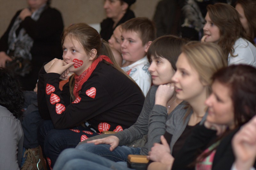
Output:
M152 19L156 4L160 0L137 0L131 6L137 17L148 17ZM52 0L51 6L57 8L64 20L64 25L86 22L97 24L106 18L103 9L103 0ZM0 0L0 35L7 29L16 11L27 6L26 0Z

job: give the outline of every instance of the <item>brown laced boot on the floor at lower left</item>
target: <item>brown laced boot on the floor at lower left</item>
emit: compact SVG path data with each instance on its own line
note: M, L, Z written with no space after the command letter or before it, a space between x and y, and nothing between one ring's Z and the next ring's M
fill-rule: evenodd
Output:
M29 148L26 149L24 153L24 158L27 155L27 159L25 160L23 166L21 167L21 170L43 170L43 164L39 157L39 146L36 148Z

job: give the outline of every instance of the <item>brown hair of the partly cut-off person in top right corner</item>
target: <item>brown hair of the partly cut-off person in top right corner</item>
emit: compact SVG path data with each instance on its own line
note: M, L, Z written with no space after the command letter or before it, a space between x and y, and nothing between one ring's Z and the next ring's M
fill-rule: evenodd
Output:
M236 4L240 4L244 9L244 15L247 19L247 23L249 26L249 33L247 35L251 38L255 38L256 36L256 17L255 17L255 9L256 9L256 1L255 0L237 0Z

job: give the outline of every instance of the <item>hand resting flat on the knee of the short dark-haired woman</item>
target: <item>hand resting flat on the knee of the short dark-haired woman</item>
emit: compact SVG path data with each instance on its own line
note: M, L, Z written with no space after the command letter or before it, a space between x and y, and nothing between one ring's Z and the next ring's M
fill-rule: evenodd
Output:
M104 137L102 139L95 139L88 141L87 143L94 143L94 144L109 144L110 151L113 151L119 144L119 139L116 136L109 136L109 137Z

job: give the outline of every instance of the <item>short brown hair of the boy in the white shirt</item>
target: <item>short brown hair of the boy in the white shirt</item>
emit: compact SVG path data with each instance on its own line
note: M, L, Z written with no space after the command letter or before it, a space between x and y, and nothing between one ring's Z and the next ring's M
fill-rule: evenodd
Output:
M137 33L144 46L148 41L156 39L156 26L146 17L132 18L122 24L122 31L133 31Z

